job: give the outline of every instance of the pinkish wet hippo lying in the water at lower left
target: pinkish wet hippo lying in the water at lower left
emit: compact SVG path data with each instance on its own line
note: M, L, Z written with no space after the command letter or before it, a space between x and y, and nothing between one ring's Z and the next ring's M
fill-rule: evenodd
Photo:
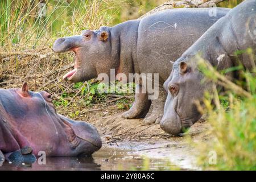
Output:
M9 153L30 146L35 155L90 155L101 148L97 130L56 113L51 95L21 89L0 89L0 151Z

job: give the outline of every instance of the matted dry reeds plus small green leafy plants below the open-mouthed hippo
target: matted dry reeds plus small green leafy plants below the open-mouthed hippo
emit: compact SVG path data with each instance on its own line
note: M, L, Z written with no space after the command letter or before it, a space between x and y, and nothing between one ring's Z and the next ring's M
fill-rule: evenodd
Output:
M23 52L0 52L1 55L1 80L3 89L19 88L24 81L28 82L30 90L39 92L42 90L52 94L56 109L60 114L75 119L84 119L89 111L98 109L120 109L117 102L133 99L133 96L117 96L113 94L100 95L82 94L86 86L97 83L95 80L81 83L79 88L74 83L62 80L64 73L73 68L73 53L55 53L49 47L27 50ZM65 97L63 97L65 94ZM93 105L86 105L88 97L94 97ZM126 109L128 106L125 107ZM125 109L123 108L123 109ZM122 109L122 108L121 108Z

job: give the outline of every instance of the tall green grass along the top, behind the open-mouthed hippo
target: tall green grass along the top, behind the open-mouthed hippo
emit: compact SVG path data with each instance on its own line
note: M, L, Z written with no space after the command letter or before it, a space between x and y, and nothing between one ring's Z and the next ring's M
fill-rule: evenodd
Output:
M7 51L13 44L35 48L42 40L51 46L51 38L56 36L77 35L85 29L138 18L160 3L152 0L5 0L0 2L0 43L8 46Z

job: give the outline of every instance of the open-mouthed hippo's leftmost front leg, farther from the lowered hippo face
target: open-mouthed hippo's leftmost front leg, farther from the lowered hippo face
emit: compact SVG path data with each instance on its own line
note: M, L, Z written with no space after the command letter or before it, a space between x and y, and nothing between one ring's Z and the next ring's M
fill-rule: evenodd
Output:
M148 94L142 93L142 86L137 84L135 102L133 106L122 114L123 118L144 118L150 109L151 100L148 100Z

